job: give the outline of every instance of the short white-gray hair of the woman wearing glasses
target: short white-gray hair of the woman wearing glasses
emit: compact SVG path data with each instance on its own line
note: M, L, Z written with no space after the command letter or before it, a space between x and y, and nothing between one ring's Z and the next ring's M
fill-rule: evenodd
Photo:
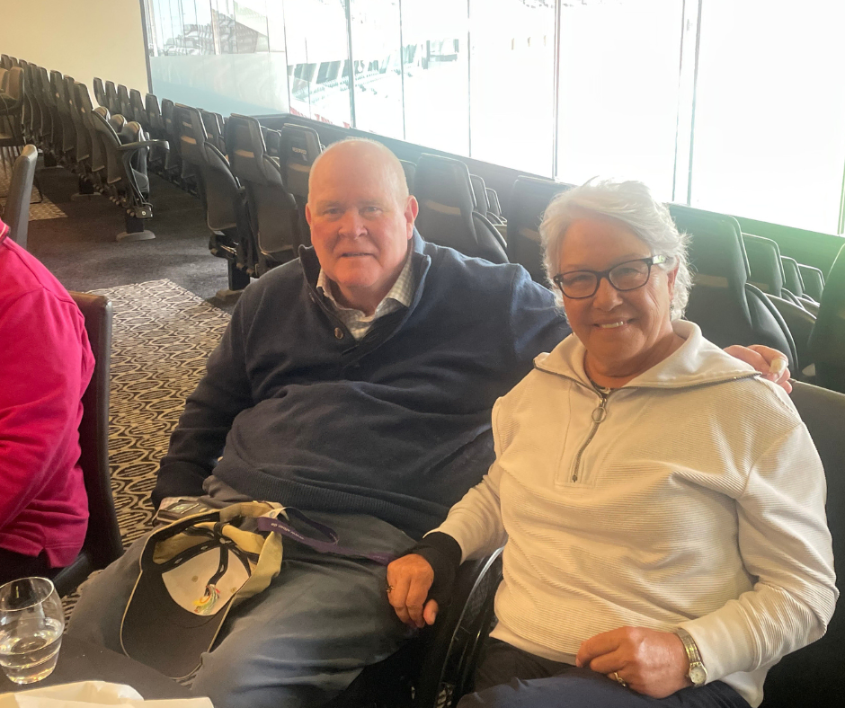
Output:
M652 255L668 256L666 263L657 268L672 270L678 266L672 296L672 319L678 319L687 306L692 288L687 262L689 237L679 233L669 209L656 201L640 181L596 181L593 178L551 200L540 224L548 281L553 282L557 275L566 229L576 219L584 217L616 219L631 229L649 247ZM560 292L555 289L560 302Z

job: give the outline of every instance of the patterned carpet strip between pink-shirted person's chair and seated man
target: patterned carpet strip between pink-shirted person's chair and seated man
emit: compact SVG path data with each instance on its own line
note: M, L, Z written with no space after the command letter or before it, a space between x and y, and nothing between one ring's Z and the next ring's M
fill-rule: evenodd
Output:
M123 544L151 528L149 493L185 399L229 315L170 280L93 290L111 299L111 485ZM65 599L66 614L76 595Z

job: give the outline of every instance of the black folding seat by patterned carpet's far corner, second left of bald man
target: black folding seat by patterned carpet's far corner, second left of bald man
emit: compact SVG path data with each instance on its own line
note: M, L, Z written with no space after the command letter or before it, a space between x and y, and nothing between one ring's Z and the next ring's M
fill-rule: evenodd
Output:
M248 269L255 261L246 190L232 173L226 156L209 140L200 111L177 103L173 118L182 160L192 164L199 176L200 201L211 232L209 251L227 259L229 290L242 290L249 285Z

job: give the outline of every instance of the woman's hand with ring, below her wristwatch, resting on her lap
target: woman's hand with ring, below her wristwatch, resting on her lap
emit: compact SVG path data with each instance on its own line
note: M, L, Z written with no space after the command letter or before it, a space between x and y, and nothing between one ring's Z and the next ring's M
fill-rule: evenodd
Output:
M618 676L628 688L652 698L665 698L691 686L689 659L680 637L645 627L596 634L581 644L575 665L613 680Z

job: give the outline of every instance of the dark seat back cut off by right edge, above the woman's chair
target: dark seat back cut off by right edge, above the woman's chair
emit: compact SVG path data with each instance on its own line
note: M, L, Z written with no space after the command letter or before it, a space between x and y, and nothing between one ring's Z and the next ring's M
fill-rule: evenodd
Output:
M815 364L813 383L845 394L845 246L824 282L810 354Z

